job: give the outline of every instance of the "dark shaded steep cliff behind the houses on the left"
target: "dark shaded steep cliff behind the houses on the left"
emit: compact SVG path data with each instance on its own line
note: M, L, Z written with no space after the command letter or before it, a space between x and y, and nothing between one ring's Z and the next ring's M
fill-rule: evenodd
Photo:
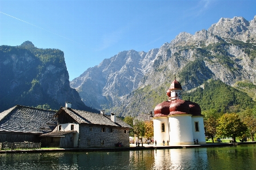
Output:
M48 104L58 110L65 102L86 109L78 92L70 88L64 53L39 49L31 42L0 46L0 112L14 105Z

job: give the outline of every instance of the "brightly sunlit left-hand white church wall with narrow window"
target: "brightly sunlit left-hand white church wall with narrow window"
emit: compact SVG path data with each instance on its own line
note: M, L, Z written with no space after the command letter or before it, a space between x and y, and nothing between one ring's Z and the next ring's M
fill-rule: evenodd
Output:
M169 140L169 122L167 117L154 117L154 141L157 140L157 146L163 145L163 140L165 140L165 145L167 145L167 140ZM162 123L165 124L165 131L162 132Z

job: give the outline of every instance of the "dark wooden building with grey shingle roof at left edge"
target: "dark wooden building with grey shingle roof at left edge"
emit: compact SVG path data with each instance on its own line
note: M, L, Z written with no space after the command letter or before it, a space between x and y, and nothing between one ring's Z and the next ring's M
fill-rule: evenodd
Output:
M16 105L0 113L0 143L40 142L39 135L57 126L56 111Z

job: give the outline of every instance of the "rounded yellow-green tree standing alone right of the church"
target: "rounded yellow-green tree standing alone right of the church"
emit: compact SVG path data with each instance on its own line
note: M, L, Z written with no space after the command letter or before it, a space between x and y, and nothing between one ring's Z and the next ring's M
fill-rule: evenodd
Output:
M247 127L241 121L238 114L225 113L218 119L217 135L231 136L233 142L237 136L242 136L246 133Z

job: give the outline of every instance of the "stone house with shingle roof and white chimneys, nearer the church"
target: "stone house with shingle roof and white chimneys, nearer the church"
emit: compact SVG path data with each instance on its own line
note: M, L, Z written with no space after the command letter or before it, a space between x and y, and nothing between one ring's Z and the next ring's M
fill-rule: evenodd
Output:
M130 125L117 118L115 114L106 115L89 111L71 109L66 103L54 115L58 126L54 131L41 135L42 145L75 147L114 147L117 143L129 147Z

